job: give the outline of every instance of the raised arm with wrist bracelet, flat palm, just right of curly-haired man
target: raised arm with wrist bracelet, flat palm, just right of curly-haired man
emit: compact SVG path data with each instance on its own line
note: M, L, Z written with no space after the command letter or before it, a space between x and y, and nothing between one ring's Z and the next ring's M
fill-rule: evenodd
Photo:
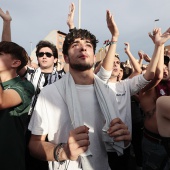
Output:
M111 41L106 57L103 60L102 66L105 70L111 71L113 69L113 61L116 53L119 30L109 10L107 10L106 12L106 20L107 20L107 26L111 33Z

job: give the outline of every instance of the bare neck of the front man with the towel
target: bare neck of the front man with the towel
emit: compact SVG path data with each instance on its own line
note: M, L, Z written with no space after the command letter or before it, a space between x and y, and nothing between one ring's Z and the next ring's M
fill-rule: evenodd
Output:
M94 83L94 73L92 69L81 72L72 69L69 70L75 84L90 85Z

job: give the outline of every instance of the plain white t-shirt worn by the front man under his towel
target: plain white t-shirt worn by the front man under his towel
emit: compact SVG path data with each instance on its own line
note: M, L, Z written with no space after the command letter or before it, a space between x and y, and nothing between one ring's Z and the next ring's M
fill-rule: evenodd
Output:
M41 91L29 124L29 130L35 135L48 134L48 140L51 143L67 143L69 131L73 127L67 105L54 84L46 86ZM94 170L108 170L107 152L102 141L102 127L105 120L94 87L93 85L76 85L76 89L84 124L90 128L89 147L93 154ZM68 170L80 170L78 161L67 161L67 164ZM49 162L50 170L58 170L58 167L56 161ZM59 169L65 169L65 164L61 165Z

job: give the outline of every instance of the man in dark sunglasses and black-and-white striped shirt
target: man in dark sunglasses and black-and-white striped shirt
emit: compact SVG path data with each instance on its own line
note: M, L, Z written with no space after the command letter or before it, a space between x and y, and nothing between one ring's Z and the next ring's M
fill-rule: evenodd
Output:
M65 74L63 70L57 71L55 67L58 60L58 52L56 46L51 42L45 40L40 41L36 45L36 56L39 67L33 69L27 66L27 68L23 68L25 69L25 73L22 75L29 80L35 88L35 96L29 112L30 115L32 114L41 89L59 80Z

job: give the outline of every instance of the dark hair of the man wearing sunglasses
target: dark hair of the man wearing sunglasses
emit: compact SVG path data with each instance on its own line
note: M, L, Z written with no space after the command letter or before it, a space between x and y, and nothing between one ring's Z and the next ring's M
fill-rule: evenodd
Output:
M53 56L54 58L58 58L58 51L57 51L57 48L54 44L52 44L51 42L49 41L46 41L46 40L41 40L39 41L39 43L36 45L36 56L38 56L38 53L39 51L41 50L41 48L44 48L44 47L48 47L51 49L51 51L53 52Z

